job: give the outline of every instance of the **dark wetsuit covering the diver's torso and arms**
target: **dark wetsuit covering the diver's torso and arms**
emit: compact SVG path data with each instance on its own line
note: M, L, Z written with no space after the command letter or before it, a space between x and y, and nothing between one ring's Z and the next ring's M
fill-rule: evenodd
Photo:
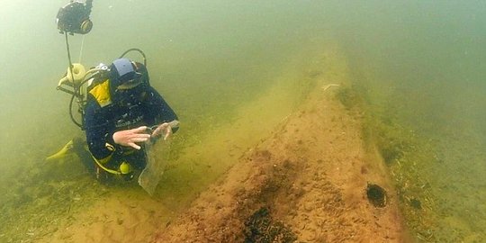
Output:
M128 90L116 90L108 86L111 102L103 106L93 94L88 93L85 132L91 154L96 159L110 157L109 164L112 165L109 167L116 169L119 162L111 160L117 160L134 149L115 144L112 139L114 132L144 125L150 127L178 119L164 98L148 85L148 80Z

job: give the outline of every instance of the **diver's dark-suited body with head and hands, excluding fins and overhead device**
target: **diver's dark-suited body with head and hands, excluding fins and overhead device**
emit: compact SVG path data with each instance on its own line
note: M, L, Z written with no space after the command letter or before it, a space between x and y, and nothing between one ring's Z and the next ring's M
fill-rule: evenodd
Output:
M118 58L88 81L84 109L86 141L96 178L131 179L146 166L145 143L178 129L177 115L149 85L146 67Z

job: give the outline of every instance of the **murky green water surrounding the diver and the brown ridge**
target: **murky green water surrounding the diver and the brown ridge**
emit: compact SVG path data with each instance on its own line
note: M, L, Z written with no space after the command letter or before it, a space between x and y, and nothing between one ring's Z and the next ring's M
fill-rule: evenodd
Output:
M4 0L0 8L0 225L34 203L23 191L43 183L44 158L83 135L69 119L70 96L56 90L68 65L55 23L65 4ZM151 84L184 124L180 149L228 124L275 76L295 71L290 59L338 43L374 119L402 144L413 134L420 145L401 148L391 170L430 158L414 160L420 171L400 172L429 192L403 193L416 238L486 241L485 1L94 0L91 19L91 32L68 37L73 61L94 67L143 49ZM397 179L399 193L401 185ZM0 241L29 237L2 227Z

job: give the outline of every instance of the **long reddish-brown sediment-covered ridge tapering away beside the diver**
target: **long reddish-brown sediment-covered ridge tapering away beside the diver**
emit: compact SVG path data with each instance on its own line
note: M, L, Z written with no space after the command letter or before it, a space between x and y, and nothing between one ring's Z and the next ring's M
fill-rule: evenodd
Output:
M338 74L318 77L329 84L332 76ZM244 242L248 220L261 209L271 219L266 226L278 225L288 236L269 232L267 242L407 241L383 162L365 154L359 109L334 94L313 91L154 241ZM384 207L368 202L368 182L388 192Z

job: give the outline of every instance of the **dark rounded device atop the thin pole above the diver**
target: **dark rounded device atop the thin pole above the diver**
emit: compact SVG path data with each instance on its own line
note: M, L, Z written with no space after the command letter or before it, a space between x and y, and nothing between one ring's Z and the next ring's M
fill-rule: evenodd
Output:
M86 34L93 28L93 22L89 19L93 0L86 0L86 3L71 1L58 11L56 23L58 23L59 32L67 32L71 35L75 33Z

